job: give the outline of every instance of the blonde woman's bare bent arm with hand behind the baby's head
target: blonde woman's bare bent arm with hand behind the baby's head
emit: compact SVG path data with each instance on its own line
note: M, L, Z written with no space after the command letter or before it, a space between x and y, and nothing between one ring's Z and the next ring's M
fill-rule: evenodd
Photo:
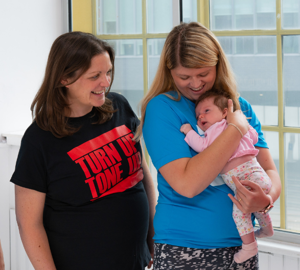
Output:
M248 122L240 110L233 112L233 102L228 100L227 121L239 127L243 134ZM200 194L218 176L241 140L239 130L230 125L203 152L193 157L181 157L161 166L158 170L174 191L193 198ZM224 143L226 142L226 143Z

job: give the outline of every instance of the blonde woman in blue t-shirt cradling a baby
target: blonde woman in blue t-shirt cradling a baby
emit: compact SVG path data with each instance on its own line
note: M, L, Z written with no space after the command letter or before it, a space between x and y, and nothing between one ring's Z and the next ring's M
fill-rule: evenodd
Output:
M184 142L179 129L189 123L197 131L195 102L212 88L233 96L240 110L233 112L229 99L230 125L209 148L196 153ZM143 129L147 150L158 171L154 269L258 269L258 254L243 263L233 259L242 242L232 219L232 202L250 213L268 207L270 199L258 184L233 178L236 200L218 176L239 145L241 134L248 130L242 112L259 133L257 160L271 178L269 195L275 201L281 191L278 172L259 120L250 104L238 95L234 74L219 42L200 23L176 26L166 39L156 76L142 101L141 125L136 134L139 138Z

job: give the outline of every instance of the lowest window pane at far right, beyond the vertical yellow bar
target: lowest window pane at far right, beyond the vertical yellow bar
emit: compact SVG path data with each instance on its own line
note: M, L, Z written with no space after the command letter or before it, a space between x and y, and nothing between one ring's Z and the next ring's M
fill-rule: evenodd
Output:
M300 136L285 133L286 229L300 231Z

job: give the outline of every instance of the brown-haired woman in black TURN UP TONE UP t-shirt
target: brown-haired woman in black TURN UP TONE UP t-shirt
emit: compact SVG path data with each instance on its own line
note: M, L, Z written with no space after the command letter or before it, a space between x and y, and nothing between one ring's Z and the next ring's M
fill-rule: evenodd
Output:
M154 188L132 140L139 119L109 93L113 72L113 49L91 34L52 45L11 178L35 269L151 266Z

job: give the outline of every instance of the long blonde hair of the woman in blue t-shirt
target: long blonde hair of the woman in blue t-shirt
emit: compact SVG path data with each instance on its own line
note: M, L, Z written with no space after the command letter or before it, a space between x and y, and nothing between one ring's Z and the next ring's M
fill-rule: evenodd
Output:
M141 124L135 134L135 140L139 140L142 136L146 107L152 98L165 94L171 99L180 100L181 94L171 75L171 70L178 66L185 68L216 66L217 74L213 88L229 93L236 104L239 104L234 73L215 35L199 22L182 22L167 36L156 75L141 101ZM167 94L171 90L177 92L177 99Z

